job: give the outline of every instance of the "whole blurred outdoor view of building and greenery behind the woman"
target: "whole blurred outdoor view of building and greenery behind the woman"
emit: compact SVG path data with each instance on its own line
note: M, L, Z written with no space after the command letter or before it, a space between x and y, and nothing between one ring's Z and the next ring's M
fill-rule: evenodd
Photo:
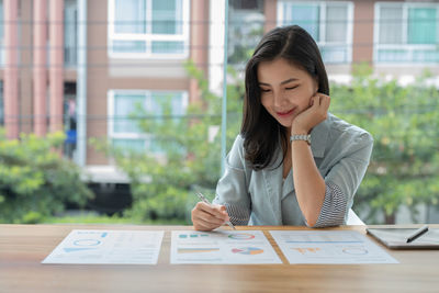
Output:
M0 0L0 223L191 224L264 32L317 42L374 149L365 224L439 223L439 1Z

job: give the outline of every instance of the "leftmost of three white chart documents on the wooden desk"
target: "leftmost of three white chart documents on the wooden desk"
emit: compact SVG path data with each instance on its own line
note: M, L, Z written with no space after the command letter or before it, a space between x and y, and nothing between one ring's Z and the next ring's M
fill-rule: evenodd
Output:
M162 230L74 229L42 263L156 264Z

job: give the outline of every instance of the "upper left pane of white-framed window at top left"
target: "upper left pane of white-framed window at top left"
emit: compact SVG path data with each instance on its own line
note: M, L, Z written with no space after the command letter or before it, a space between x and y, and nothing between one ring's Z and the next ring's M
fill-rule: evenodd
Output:
M114 32L146 33L145 0L114 0Z

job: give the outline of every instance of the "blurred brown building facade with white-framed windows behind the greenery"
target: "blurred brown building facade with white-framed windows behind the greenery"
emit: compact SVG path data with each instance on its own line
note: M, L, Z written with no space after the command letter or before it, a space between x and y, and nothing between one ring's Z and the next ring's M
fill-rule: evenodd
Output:
M65 154L89 167L111 165L86 144L90 137L154 149L128 115L136 104L160 115L165 97L175 114L199 100L184 70L189 59L221 88L224 3L0 0L0 123L8 137L64 131ZM316 40L330 79L348 81L359 63L407 80L425 68L439 76L439 1L230 0L229 7L235 57L244 41L247 47L258 41L252 32L294 23Z

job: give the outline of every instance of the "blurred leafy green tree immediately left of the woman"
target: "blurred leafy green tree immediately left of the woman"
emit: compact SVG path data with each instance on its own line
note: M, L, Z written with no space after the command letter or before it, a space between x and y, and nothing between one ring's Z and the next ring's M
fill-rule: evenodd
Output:
M140 129L154 137L154 151L130 151L93 142L115 159L131 181L132 209L125 216L133 221L181 219L189 223L190 210L198 201L194 189L204 189L212 198L221 176L221 112L222 99L209 90L204 74L193 63L187 64L190 76L198 80L201 100L191 102L183 116L171 113L170 99L161 104L164 116L158 119L140 106L133 113ZM236 78L230 72L232 78ZM235 139L243 106L241 86L227 88L227 146ZM210 132L218 131L216 135Z

